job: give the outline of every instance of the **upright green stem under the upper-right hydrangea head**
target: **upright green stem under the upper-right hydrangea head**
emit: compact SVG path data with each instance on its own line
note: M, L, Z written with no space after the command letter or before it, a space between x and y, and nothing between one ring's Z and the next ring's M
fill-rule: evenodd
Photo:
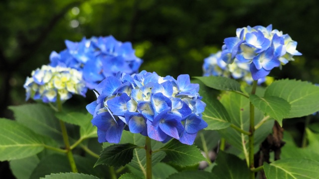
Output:
M257 88L257 80L254 80L253 82L253 88L251 89L251 94L256 93ZM255 172L252 171L252 169L255 168L254 165L254 133L255 133L255 107L250 102L249 105L250 108L250 120L249 120L249 132L250 135L248 135L249 139L249 168L250 168L250 179L255 179Z

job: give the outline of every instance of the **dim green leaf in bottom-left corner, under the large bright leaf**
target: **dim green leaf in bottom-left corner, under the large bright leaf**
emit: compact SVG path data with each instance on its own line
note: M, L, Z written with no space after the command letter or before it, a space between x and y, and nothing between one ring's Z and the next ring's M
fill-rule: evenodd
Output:
M36 168L40 159L37 155L9 162L12 174L16 179L30 179L32 171Z

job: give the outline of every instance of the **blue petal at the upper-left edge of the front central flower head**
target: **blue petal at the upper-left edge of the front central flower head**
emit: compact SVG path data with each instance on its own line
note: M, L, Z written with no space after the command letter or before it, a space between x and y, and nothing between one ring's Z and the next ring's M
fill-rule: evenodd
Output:
M106 95L112 95L113 92L122 85L121 81L115 77L106 77L95 89Z

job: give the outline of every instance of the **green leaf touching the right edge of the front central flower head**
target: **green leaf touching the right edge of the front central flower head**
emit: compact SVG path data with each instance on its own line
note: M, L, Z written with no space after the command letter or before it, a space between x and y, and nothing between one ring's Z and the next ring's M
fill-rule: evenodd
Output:
M230 117L225 107L217 100L210 99L205 101L206 107L202 113L203 120L207 122L208 127L205 130L218 130L224 129L231 125Z

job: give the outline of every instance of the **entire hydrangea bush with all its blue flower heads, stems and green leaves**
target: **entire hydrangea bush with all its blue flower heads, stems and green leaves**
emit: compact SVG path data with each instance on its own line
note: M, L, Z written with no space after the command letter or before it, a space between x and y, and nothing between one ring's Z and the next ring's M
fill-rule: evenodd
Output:
M289 79L257 87L301 55L271 25L237 29L194 79L139 73L131 43L112 36L66 46L27 77L26 99L37 103L10 106L16 120L0 119L0 161L17 179L318 178L318 122L310 130L307 119L303 148L282 127L319 111L319 87ZM96 100L66 101L87 89Z

